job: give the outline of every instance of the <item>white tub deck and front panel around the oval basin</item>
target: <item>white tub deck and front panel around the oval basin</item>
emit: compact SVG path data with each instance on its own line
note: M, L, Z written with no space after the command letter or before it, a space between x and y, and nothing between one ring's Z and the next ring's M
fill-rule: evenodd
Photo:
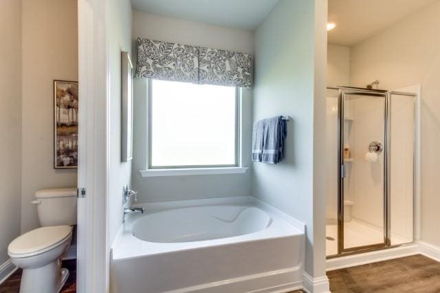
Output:
M300 289L305 255L303 224L252 198L243 198L242 202L236 202L236 198L230 202L221 200L211 205L259 208L270 215L271 223L258 232L235 237L155 243L132 235L136 219L130 216L112 248L112 292L241 293ZM203 206L206 202L199 204ZM166 208L146 206L146 210L155 213Z

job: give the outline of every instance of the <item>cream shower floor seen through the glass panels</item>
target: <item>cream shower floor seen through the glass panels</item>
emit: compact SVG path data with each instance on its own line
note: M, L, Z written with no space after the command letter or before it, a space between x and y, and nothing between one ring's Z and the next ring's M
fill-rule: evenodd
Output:
M357 219L352 219L351 221L345 223L344 233L345 248L354 248L384 242L383 230L380 228L375 228L369 224L365 224ZM326 237L326 254L338 254L338 225L327 225ZM334 240L328 239L329 237ZM406 239L397 235L392 235L391 238L392 244L408 243L412 241L411 239Z

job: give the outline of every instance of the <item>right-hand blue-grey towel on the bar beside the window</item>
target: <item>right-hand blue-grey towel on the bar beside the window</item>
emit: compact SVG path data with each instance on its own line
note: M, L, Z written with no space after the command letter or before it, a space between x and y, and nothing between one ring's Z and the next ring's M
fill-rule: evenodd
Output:
M276 116L263 120L263 155L261 162L278 164L284 158L284 144L287 137L286 120Z

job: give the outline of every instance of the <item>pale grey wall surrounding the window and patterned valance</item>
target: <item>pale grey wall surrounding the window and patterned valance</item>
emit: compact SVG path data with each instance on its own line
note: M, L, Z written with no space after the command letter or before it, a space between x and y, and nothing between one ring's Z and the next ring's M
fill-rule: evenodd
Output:
M253 51L253 36L248 30L133 11L133 52L137 52L137 37L246 53ZM251 96L250 90L243 90L243 166L250 166ZM134 108L132 182L133 188L139 192L139 202L251 195L250 171L234 175L140 177L139 171L146 168L145 79L135 79Z

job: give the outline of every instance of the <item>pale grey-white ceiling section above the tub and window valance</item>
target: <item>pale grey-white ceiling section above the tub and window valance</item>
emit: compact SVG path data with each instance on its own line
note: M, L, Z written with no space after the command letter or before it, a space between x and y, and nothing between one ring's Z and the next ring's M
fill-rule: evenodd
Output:
M254 30L278 0L131 0L134 10Z

